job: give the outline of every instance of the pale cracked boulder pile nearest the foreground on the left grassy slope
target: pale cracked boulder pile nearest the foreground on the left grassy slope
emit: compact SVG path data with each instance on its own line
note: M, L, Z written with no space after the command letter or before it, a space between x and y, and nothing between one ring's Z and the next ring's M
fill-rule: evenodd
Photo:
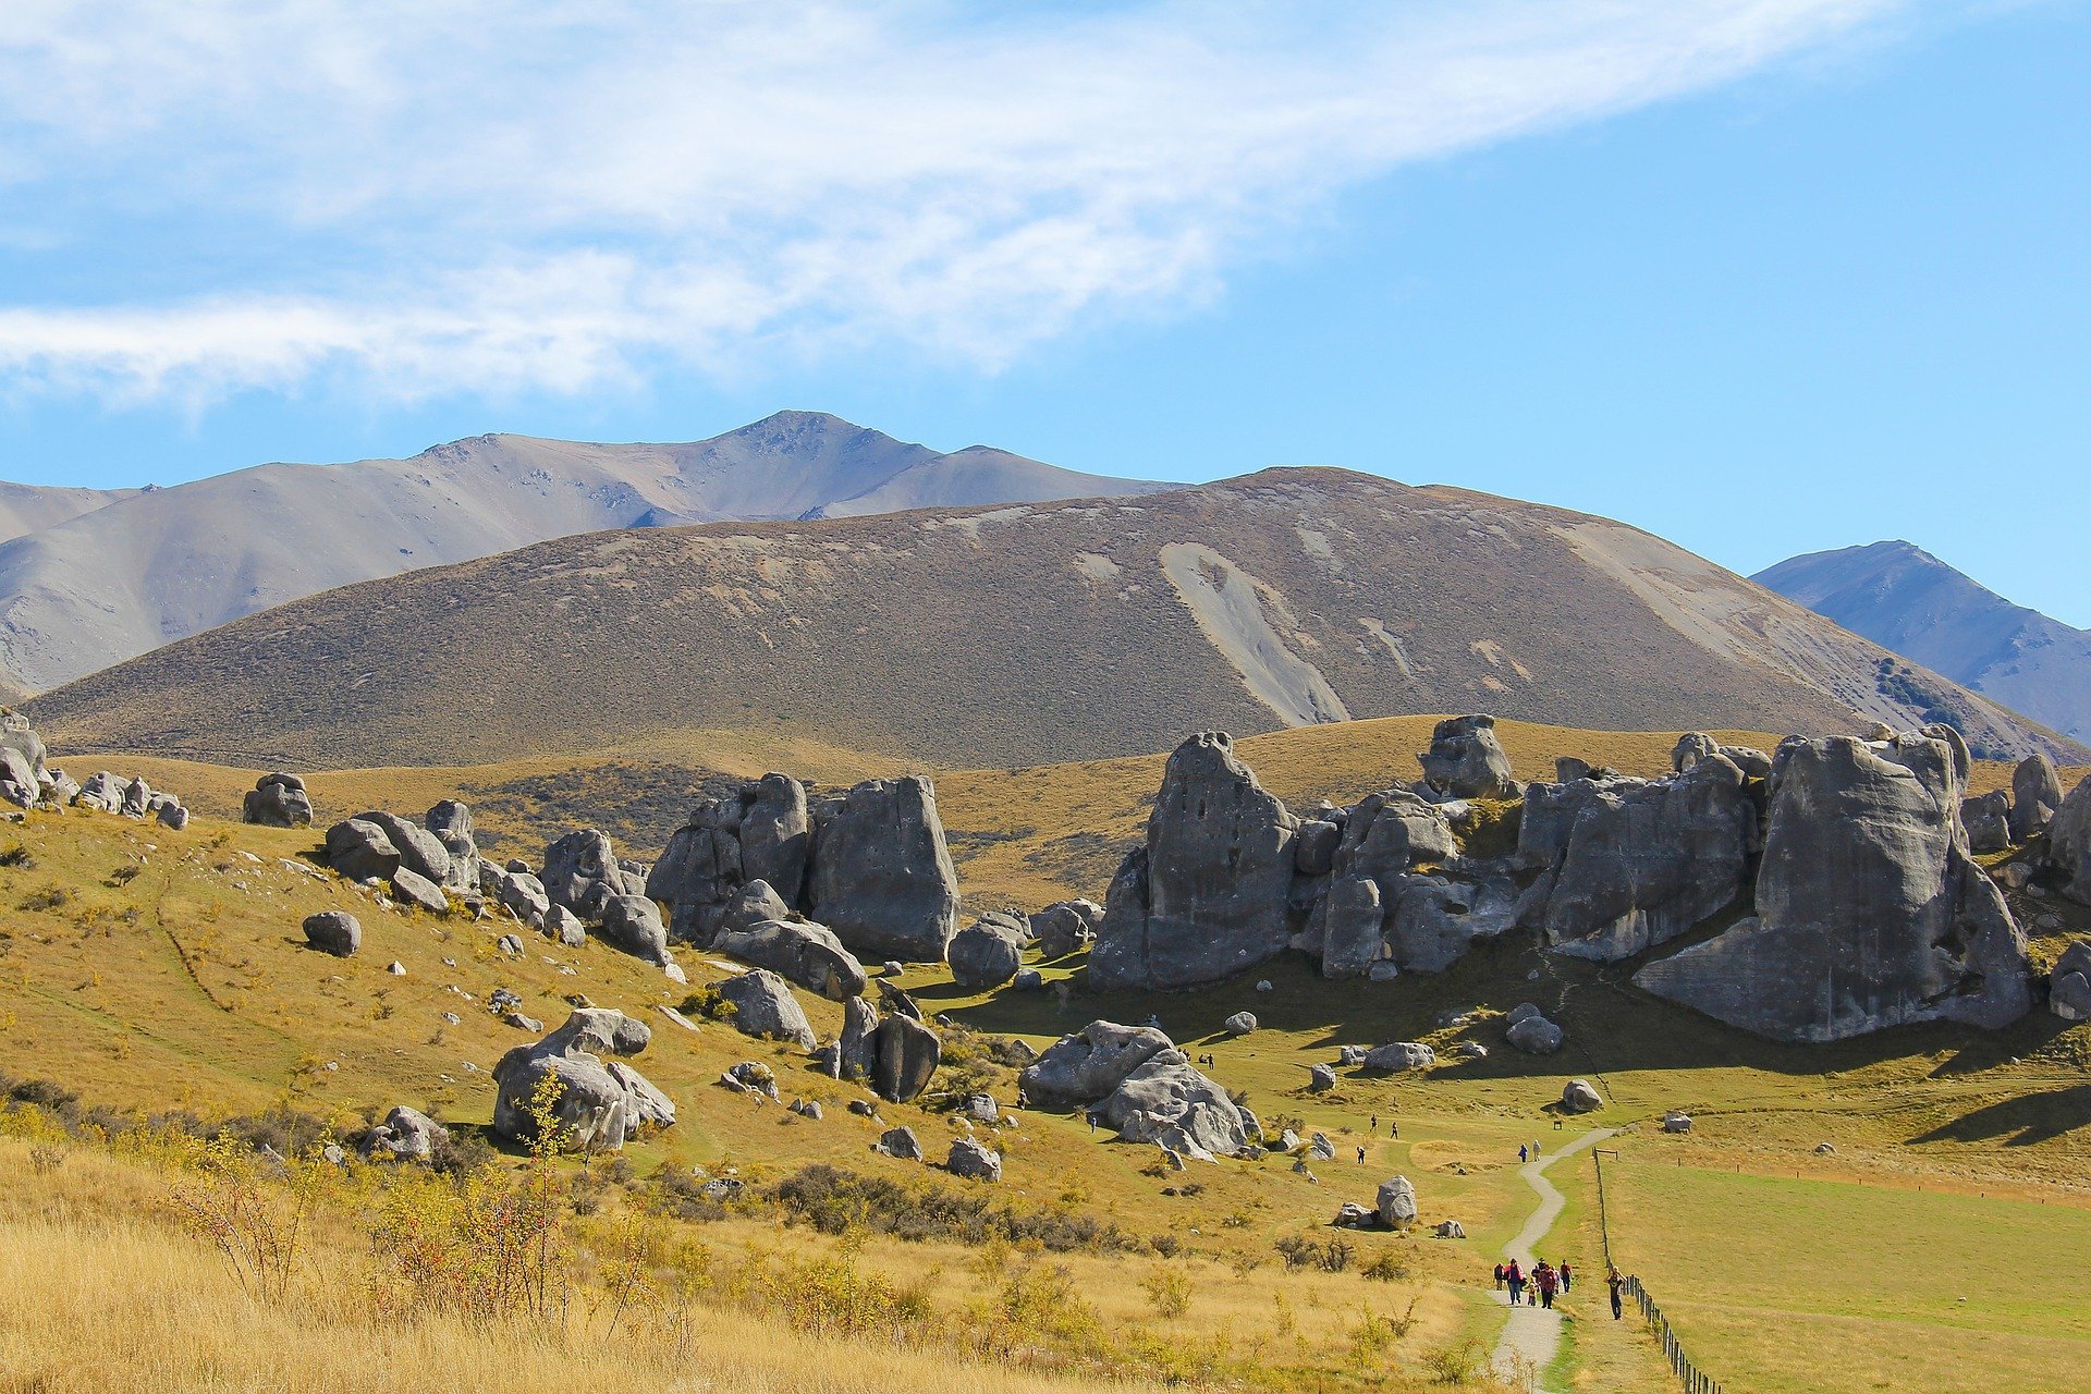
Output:
M537 1137L535 1095L546 1076L558 1081L552 1114L562 1141L583 1147L623 1147L642 1126L675 1122L675 1103L623 1060L646 1049L652 1032L623 1012L581 1007L567 1024L519 1045L493 1066L493 1131L510 1141Z

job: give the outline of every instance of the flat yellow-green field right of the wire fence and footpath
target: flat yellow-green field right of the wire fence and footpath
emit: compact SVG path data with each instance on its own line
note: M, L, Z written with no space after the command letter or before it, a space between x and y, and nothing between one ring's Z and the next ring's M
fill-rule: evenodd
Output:
M1759 1394L2051 1394L2091 1369L2091 1210L1606 1162L1612 1252Z

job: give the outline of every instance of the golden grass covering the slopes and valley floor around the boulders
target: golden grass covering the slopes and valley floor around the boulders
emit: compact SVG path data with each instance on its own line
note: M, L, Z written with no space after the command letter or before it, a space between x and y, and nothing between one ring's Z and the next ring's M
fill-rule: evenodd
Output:
M1430 719L1347 723L1244 738L1238 748L1294 805L1324 794L1347 800L1409 780L1428 727ZM1675 742L1675 734L1524 723L1499 729L1526 775L1547 769L1556 754L1652 773L1667 767ZM1723 738L1771 744L1769 736ZM786 767L826 782L891 771L843 750L723 738L623 748L606 759L732 775ZM61 763L75 773L98 767L92 757ZM307 861L318 844L314 832L224 821L222 813L236 807L255 771L151 759L100 763L144 773L205 813L182 834L86 811L38 813L19 828L0 828L0 861L15 861L0 865L0 1070L6 1074L50 1076L90 1103L136 1110L228 1114L286 1103L345 1131L370 1110L404 1101L475 1124L491 1110L487 1070L504 1049L525 1041L483 1009L487 995L508 986L521 993L523 1012L556 1024L565 997L585 993L654 1026L654 1043L634 1064L680 1106L673 1129L629 1149L636 1177L659 1168L705 1166L713 1175L736 1168L759 1187L826 1162L903 1181L941 1179L933 1168L870 1152L880 1129L843 1108L857 1097L853 1087L815 1076L726 1026L700 1022L690 1032L671 1024L657 1005L682 1001L688 989L634 959L596 943L558 949L533 936L527 955L510 959L493 947L502 924L383 911L353 886L316 874ZM1156 754L1018 771L937 771L968 901L1035 909L1064 895L1100 897L1102 876L1138 838L1161 763ZM1995 780L1997 771L1984 769L1982 777ZM418 811L447 794L470 798L475 790L519 780L573 796L588 792L588 771L569 761L339 771L316 775L312 788L326 821L364 807ZM690 786L696 782L692 773ZM531 857L531 840L542 842L562 826L531 807L481 821ZM4 857L17 846L19 859ZM652 849L634 844L634 851ZM364 951L353 959L326 959L301 945L299 920L335 905L364 920ZM2062 936L2091 928L2085 907L2055 901L2016 907L2028 922L2032 911L2062 915L2062 930L2037 938L2045 957ZM393 959L406 976L385 972ZM692 986L730 972L723 961L690 951L680 959ZM1058 980L1077 963L1043 972ZM1625 976L1499 943L1437 978L1332 984L1305 963L1282 961L1269 970L1276 984L1269 995L1227 984L1167 997L1077 995L1062 1005L1054 993L962 993L949 978L916 970L903 984L924 1007L1033 1045L1092 1016L1146 1020L1158 1012L1186 1049L1217 1058L1215 1078L1246 1089L1267 1124L1299 1118L1326 1131L1338 1160L1315 1164L1317 1181L1294 1175L1276 1156L1261 1164L1200 1166L1188 1177L1202 1187L1196 1195L1163 1195L1186 1177L1150 1175L1142 1149L1096 1141L1077 1118L1020 1114L1020 1126L999 1137L1002 1200L1158 1237L1175 1258L1163 1258L1161 1250L983 1256L947 1241L872 1237L857 1241L855 1262L895 1281L935 1273L943 1317L933 1327L993 1325L983 1312L1008 1285L1012 1264L1018 1271L1037 1264L1041 1273L1064 1264L1110 1329L1161 1335L1173 1348L1209 1354L1223 1344L1236 1365L1213 1356L1194 1384L1238 1384L1242 1369L1253 1369L1255 1384L1267 1388L1420 1388L1430 1379L1432 1352L1460 1342L1493 1346L1501 1312L1485 1298L1487 1271L1533 1206L1514 1177L1516 1145L1535 1133L1564 1137L1552 1131L1543 1108L1570 1076L1581 1076L1608 1099L1591 1122L1625 1129L1608 1143L1621 1158L1606 1162L1614 1252L1644 1273L1694 1358L1729 1388L1909 1394L1963 1388L1936 1384L1934 1367L1907 1358L1932 1331L1945 1331L1938 1348L1963 1352L1972 1369L1984 1369L1982 1352L1991 1346L2001 1352L1999 1384L1986 1388L2072 1388L2091 1356L2085 1308L2055 1294L2049 1310L2024 1275L2081 1269L2091 1252L2085 1181L2091 1091L2083 1083L2091 1028L2064 1028L2039 1016L1999 1035L1938 1026L1834 1047L1773 1047L1658 1003ZM1535 1060L1501 1049L1493 1014L1526 997L1568 1026L1570 1047L1562 1055ZM815 1030L838 1026L834 1003L805 1005ZM1221 1037L1221 1018L1244 1005L1263 1028L1244 1039ZM1483 1016L1478 1026L1437 1024L1451 1009L1474 1007ZM445 1012L460 1020L445 1022ZM1347 1074L1334 1095L1303 1093L1305 1066L1332 1060L1336 1045L1388 1039L1428 1041L1441 1058L1460 1039L1495 1049L1487 1060L1447 1064L1424 1076ZM822 1099L826 1118L805 1122L713 1085L723 1066L746 1058L778 1068L786 1099L795 1093ZM1014 1097L1010 1072L991 1078L1004 1101ZM916 1126L933 1160L941 1158L939 1139L951 1133L947 1116L914 1106L880 1108L889 1124ZM1650 1124L1667 1108L1692 1112L1696 1133L1683 1139L1656 1133ZM1370 1129L1374 1116L1378 1133ZM1388 1120L1399 1120L1399 1139L1386 1137ZM1832 1141L1836 1156L1815 1156L1821 1141ZM1359 1143L1368 1147L1363 1166L1353 1152ZM21 1145L0 1143L17 1152ZM0 1390L406 1388L408 1375L418 1379L427 1367L435 1373L414 1388L514 1381L496 1381L491 1373L500 1369L527 1371L521 1377L527 1388L585 1377L613 1390L677 1388L680 1379L684 1388L838 1392L899 1384L939 1390L960 1381L1083 1388L1079 1381L1098 1373L1066 1363L1018 1371L1006 1361L989 1371L966 1365L979 1352L928 1335L878 1340L864 1350L861 1338L809 1333L782 1319L763 1325L761 1340L740 1340L746 1315L715 1302L690 1308L673 1358L644 1342L629 1356L621 1350L617 1361L604 1358L585 1323L565 1335L539 1329L523 1340L437 1319L395 1329L355 1300L370 1250L358 1195L341 1202L326 1244L314 1250L316 1260L299 1279L326 1285L337 1298L257 1306L234 1300L209 1252L165 1218L159 1200L180 1177L163 1166L79 1143L48 1175L25 1168L19 1156L0 1166L17 1179L0 1191L6 1225ZM1357 1235L1357 1264L1393 1252L1407 1269L1399 1283L1368 1281L1357 1269L1342 1275L1282 1269L1271 1250L1276 1239L1326 1237L1338 1202L1370 1204L1378 1181L1395 1172L1416 1181L1426 1223L1460 1218L1470 1239ZM1541 1250L1570 1254L1587 1281L1595 1279L1604 1248L1589 1160L1564 1164L1554 1181L1570 1204ZM778 1246L826 1252L836 1244L805 1229L786 1237L763 1216L669 1225L721 1256ZM1867 1296L1853 1281L1848 1256L1890 1241L1897 1281ZM54 1262L56 1256L73 1260ZM54 1267L63 1279L50 1277ZM1156 1269L1190 1279L1181 1315L1161 1317L1144 1292L1142 1281ZM1932 1298L1945 1294L1970 1302L1938 1312ZM40 1302L36 1317L23 1315L31 1300ZM1411 1300L1407 1335L1361 1358L1361 1312L1370 1308L1384 1319L1409 1310ZM1629 1394L1675 1388L1646 1331L1633 1321L1612 1323L1600 1308L1595 1281L1564 1304L1568 1342L1547 1388ZM96 1312L134 1319L107 1321ZM690 1338L692 1329L703 1335ZM194 1340L178 1335L184 1331L197 1333ZM1855 1352L1848 1367L1821 1367L1825 1340L1848 1342ZM1807 1381L1811 1358L1813 1375L1832 1381ZM305 1384L270 1384L286 1377L282 1371ZM1108 1373L1123 1379L1138 1375L1138 1365Z

